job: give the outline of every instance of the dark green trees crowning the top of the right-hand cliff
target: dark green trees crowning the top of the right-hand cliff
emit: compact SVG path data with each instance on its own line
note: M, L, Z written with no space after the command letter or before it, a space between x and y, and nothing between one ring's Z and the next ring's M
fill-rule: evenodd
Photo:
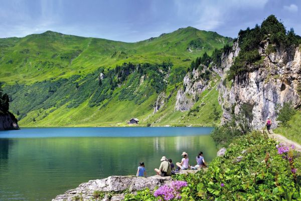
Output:
M234 79L240 73L252 70L251 64L261 59L258 49L262 41L269 42L266 54L275 52L276 47L294 48L301 43L293 29L286 32L282 22L279 22L274 15L267 17L261 26L256 25L253 29L240 30L238 35L240 52L228 72L229 80Z

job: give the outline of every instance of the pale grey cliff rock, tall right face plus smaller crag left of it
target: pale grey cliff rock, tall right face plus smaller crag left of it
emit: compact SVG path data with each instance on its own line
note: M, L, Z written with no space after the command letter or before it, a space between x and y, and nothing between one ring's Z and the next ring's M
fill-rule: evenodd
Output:
M221 54L221 64L210 63L188 72L183 88L178 90L175 110L187 111L197 102L197 97L212 84L204 79L204 73L220 76L217 86L219 104L222 106L222 123L233 114L244 114L255 129L264 127L267 118L272 128L277 126L277 111L285 102L295 108L301 106L301 46L275 45L267 38L260 41L260 60L246 64L246 69L229 79L230 67L234 64L241 48L240 36L229 51ZM203 76L202 76L203 75Z

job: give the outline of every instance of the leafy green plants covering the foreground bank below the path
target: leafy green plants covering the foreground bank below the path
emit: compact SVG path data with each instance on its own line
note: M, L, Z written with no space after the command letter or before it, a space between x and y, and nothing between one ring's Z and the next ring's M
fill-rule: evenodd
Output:
M278 145L260 132L237 137L208 170L176 175L187 182L174 200L299 200L301 159L290 147ZM289 151L288 151L289 150ZM161 198L161 197L160 197ZM145 189L125 200L158 200Z

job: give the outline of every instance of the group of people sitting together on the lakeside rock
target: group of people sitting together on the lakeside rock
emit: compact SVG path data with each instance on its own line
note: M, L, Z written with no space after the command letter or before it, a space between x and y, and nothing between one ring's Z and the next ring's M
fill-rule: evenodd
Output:
M203 152L199 152L199 154L196 157L197 164L195 166L191 166L189 164L189 158L188 153L185 151L182 153L182 160L181 162L177 162L177 168L175 168L175 165L173 164L172 159L168 159L165 156L162 156L161 158L161 164L159 169L155 169L155 172L157 175L161 176L171 176L172 174L175 174L175 172L179 172L180 170L187 170L187 169L198 169L201 167L206 167L207 163L204 160ZM136 176L145 176L146 177L146 171L145 166L143 162L140 162L140 166L137 168L137 174Z

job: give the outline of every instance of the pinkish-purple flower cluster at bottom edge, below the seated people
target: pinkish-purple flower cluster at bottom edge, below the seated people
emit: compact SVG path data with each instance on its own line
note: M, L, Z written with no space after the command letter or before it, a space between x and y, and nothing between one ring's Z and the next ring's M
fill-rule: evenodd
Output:
M154 195L155 197L161 196L164 200L181 199L180 190L184 186L187 186L186 181L173 181L158 188Z

